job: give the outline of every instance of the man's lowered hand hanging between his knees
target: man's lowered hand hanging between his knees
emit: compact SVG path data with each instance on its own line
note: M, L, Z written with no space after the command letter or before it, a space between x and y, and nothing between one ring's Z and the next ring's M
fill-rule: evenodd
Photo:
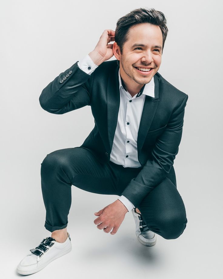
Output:
M95 215L99 217L94 220L94 223L95 225L99 224L97 225L99 230L103 229L105 233L109 233L113 228L110 234L116 234L127 212L128 209L125 205L120 200L116 200L98 212L95 212Z

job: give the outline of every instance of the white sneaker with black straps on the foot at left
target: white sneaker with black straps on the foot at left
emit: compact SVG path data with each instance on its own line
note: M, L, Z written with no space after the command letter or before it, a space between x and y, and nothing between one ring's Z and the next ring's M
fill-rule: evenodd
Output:
M22 275L33 274L46 267L51 261L69 253L72 249L71 238L67 233L64 242L57 242L53 237L44 238L31 253L25 256L17 266L17 272Z

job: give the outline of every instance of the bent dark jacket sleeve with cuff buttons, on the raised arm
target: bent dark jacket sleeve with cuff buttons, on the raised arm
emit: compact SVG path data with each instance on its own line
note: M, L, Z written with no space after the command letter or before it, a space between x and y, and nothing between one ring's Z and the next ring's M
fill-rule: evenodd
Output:
M90 106L95 72L87 74L78 67L78 62L42 90L39 103L44 110L63 114L83 106Z

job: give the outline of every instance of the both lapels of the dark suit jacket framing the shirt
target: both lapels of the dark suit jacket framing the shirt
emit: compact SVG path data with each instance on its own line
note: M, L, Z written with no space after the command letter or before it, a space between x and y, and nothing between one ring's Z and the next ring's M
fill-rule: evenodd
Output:
M108 76L107 87L107 116L108 116L108 140L110 151L112 150L112 144L115 136L115 130L118 122L118 111L120 106L120 91L118 81L119 65L115 67L115 70L110 71ZM158 103L159 103L159 82L158 77L154 76L155 83L155 97L145 96L145 102L142 110L141 121L138 130L137 149L138 153L141 151L145 137L151 126L154 118Z

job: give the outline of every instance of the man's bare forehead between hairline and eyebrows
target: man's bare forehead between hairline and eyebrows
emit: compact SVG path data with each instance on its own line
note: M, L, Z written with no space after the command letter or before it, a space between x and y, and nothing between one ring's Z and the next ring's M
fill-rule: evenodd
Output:
M144 43L147 45L151 43L162 44L163 37L159 26L150 23L140 23L133 25L129 29L128 45L133 43Z

